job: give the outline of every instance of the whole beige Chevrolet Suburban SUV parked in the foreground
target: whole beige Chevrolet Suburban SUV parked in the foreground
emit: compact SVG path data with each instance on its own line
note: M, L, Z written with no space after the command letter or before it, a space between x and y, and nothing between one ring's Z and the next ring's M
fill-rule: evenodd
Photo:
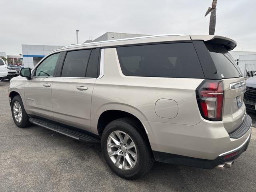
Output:
M248 147L244 77L222 36L160 35L66 46L10 82L15 124L101 142L118 176L154 160L230 167Z

